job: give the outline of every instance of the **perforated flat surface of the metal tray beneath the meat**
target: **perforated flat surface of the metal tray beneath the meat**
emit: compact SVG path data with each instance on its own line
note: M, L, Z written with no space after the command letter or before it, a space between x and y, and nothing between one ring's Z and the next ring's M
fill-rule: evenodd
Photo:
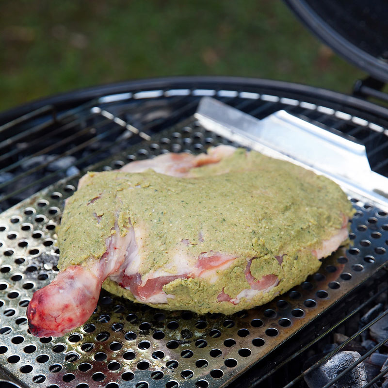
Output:
M162 152L231 143L193 119L94 170ZM25 387L222 387L381 268L387 212L352 198L352 244L271 303L232 316L169 312L102 292L93 316L61 338L28 332L32 293L56 274L55 226L78 178L58 182L0 215L0 371Z

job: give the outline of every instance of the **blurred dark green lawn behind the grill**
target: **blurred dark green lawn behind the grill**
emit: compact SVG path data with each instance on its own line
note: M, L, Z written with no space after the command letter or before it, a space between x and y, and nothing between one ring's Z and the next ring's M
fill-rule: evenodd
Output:
M281 0L1 0L0 45L0 110L167 75L271 78L345 93L363 76Z

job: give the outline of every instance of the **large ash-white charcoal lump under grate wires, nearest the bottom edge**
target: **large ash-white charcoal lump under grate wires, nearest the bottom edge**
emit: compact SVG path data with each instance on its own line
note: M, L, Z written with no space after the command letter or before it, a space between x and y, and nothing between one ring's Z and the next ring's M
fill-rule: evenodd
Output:
M328 359L324 364L305 376L309 388L321 388L331 382L339 373L348 368L360 358L357 352L339 352ZM333 388L361 388L367 384L367 373L364 363L356 365L353 369L336 381Z

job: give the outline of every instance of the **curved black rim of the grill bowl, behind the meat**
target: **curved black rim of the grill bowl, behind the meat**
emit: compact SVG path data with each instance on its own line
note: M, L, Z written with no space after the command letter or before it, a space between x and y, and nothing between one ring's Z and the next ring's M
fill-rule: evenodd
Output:
M377 120L379 118L388 119L388 108L384 106L377 105L358 97L348 96L339 92L334 92L315 86L308 86L301 83L247 77L183 76L110 83L106 85L77 89L63 94L38 99L1 112L0 125L47 105L51 105L56 111L61 111L78 106L81 103L89 101L93 98L106 95L133 92L138 90L146 91L166 88L204 88L217 90L220 88L225 89L227 87L233 90L241 89L244 91L252 91L256 93L260 92L261 89L263 89L265 93L276 91L276 94L280 92L284 94L285 97L293 98L296 98L297 96L303 96L305 98L311 97L314 99L321 99L325 104L331 102L341 104L344 107L357 109L363 113L372 113L373 115L378 116Z

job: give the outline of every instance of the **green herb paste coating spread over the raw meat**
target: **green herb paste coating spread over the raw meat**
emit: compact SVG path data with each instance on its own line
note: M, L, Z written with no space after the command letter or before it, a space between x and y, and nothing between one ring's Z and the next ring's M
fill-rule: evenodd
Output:
M191 178L152 170L92 172L66 204L58 230L58 266L100 259L115 222L125 235L130 219L135 233L137 226L143 230L141 275L162 268L177 250L194 259L210 251L236 257L218 272L217 281L176 279L163 286L173 297L150 306L233 313L267 303L316 272L321 262L311 251L333 236L353 211L330 179L240 148L219 163L193 169ZM183 246L182 240L190 243ZM276 256L282 256L281 264ZM244 270L252 258L251 274L256 279L276 275L278 285L252 299L242 297L237 305L218 302L222 291L235 298L250 288ZM103 287L137 302L109 278Z

